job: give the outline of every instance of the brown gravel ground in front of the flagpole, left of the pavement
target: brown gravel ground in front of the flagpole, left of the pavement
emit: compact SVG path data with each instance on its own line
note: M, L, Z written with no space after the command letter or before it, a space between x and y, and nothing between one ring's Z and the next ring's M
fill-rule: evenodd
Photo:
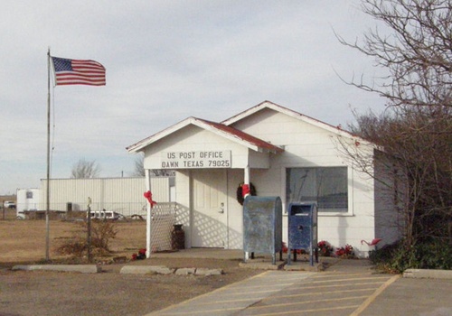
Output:
M119 274L123 265L103 265L100 274L13 272L0 267L0 316L144 315L261 272L239 264L239 260L196 258L151 258L127 264L224 272L212 276Z

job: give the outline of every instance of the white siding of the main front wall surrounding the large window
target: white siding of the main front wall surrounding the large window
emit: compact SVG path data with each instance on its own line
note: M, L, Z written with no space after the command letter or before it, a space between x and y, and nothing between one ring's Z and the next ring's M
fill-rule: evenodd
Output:
M338 135L297 118L263 110L234 127L284 147L284 153L272 155L269 170L251 170L251 181L258 195L280 196L283 200L283 240L287 241L286 168L347 166L349 174L349 211L346 214L319 214L319 240L335 247L352 245L358 256L366 256L361 240L374 237L373 181L353 170L352 163L340 152ZM372 238L371 238L372 240Z

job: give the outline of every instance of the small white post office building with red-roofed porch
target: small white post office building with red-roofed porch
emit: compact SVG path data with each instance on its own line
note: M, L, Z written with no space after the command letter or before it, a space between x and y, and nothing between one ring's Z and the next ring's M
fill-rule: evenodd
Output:
M317 203L319 241L349 244L358 256L373 249L362 240L381 238L381 246L400 237L388 191L345 154L362 151L373 157L374 146L272 102L221 123L188 117L127 151L145 153L147 179L154 169L176 172L177 220L184 224L187 248L243 248L241 183L251 183L258 196L281 198L285 241L287 205L294 201ZM149 183L147 188L152 191Z

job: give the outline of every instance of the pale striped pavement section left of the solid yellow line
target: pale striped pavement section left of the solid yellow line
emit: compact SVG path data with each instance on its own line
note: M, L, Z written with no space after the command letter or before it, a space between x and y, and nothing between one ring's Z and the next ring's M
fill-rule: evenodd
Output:
M351 315L398 276L267 271L150 315Z

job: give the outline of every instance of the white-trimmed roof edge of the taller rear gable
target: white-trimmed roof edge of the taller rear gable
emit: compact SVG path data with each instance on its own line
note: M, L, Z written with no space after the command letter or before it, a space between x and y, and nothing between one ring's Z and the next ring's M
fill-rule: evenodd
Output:
M289 109L287 107L281 107L278 104L270 102L270 101L264 101L262 103L259 103L255 107L250 107L248 110L243 111L243 112L239 113L236 116L232 116L232 117L222 121L221 124L228 125L228 126L229 125L233 125L234 123L239 122L243 118L248 117L248 116L252 116L253 114L255 114L255 113L257 113L257 112L259 112L259 111L261 111L261 110L263 110L265 108L270 108L270 109L272 109L274 111L286 114L287 116L295 117L297 119L305 121L306 123L315 125L317 127L324 128L324 129L326 129L326 130L328 130L330 132L333 132L335 134L354 136L350 132L347 132L347 131L343 130L340 125L339 126L329 125L329 124L327 124L325 122L319 121L319 120L317 120L317 119L315 119L313 117L310 117L310 116L305 116L305 115L303 115L301 113L298 113L298 112L296 112L294 110L291 110L291 109Z

